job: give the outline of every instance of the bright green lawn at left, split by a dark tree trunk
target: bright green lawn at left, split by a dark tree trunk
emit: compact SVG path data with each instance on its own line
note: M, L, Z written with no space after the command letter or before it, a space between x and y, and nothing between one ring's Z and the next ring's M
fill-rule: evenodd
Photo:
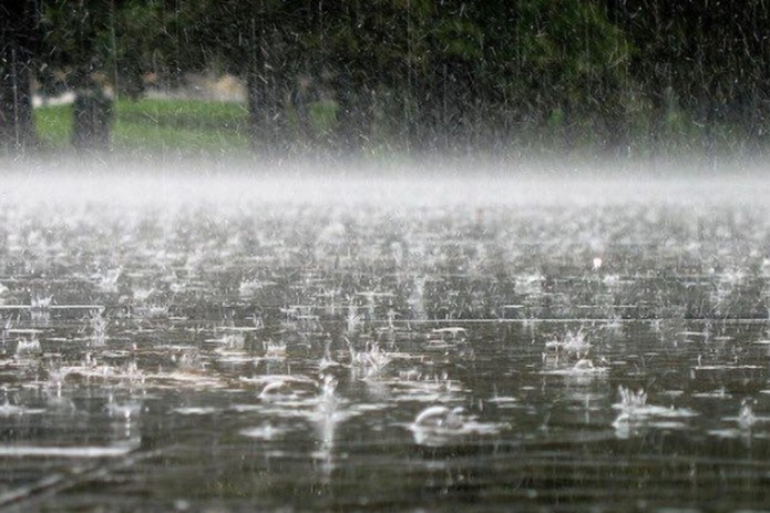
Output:
M43 150L70 147L72 105L35 109L34 122ZM245 153L249 150L248 112L237 103L119 100L111 137L117 152Z

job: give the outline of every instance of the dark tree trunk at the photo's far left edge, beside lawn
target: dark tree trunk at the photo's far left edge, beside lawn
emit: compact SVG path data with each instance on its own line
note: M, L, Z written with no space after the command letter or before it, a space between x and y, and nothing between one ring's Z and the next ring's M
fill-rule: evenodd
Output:
M35 32L33 2L0 6L0 147L12 153L23 152L35 142L31 100Z

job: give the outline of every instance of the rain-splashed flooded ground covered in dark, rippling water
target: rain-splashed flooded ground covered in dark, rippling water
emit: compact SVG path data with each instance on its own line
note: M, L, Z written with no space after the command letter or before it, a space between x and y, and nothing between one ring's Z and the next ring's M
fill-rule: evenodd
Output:
M271 187L4 197L0 504L768 507L757 191Z

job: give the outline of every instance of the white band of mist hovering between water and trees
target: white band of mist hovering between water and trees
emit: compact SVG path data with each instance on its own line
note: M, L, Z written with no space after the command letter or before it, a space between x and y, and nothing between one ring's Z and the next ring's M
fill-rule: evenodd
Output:
M768 179L761 160L701 161L41 158L3 163L2 197L129 207L202 203L212 209L250 203L398 207L762 203Z

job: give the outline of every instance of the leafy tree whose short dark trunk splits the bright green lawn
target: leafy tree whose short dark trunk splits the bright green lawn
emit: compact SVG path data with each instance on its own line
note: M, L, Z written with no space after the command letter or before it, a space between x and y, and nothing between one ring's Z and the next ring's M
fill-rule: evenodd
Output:
M50 0L43 4L45 35L38 79L44 92L75 92L75 147L109 147L113 99L138 98L146 75L176 83L183 69L202 66L197 45L186 44L182 29L194 21L194 3Z

